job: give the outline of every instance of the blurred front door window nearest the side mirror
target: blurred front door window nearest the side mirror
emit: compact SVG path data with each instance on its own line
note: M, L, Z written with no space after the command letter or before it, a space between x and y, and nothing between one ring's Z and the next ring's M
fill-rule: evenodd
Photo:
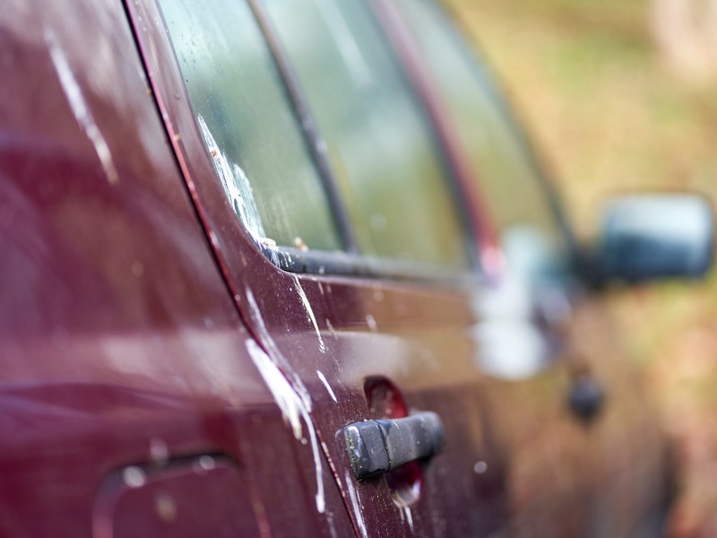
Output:
M564 232L523 134L485 68L432 0L399 0L471 159L514 271L561 269Z

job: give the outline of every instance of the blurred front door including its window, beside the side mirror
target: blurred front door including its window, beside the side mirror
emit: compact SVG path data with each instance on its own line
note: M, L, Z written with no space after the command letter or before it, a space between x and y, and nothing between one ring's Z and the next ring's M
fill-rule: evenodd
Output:
M503 253L476 337L510 455L511 528L638 535L659 519L663 444L616 327L581 282L557 197L487 68L436 3L394 4L401 16L393 23L405 24L434 84Z

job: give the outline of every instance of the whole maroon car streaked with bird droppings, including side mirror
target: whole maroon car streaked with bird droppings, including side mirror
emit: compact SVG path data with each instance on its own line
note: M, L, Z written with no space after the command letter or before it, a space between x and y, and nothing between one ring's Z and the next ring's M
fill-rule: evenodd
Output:
M600 307L712 220L578 245L430 0L0 10L0 535L651 536Z

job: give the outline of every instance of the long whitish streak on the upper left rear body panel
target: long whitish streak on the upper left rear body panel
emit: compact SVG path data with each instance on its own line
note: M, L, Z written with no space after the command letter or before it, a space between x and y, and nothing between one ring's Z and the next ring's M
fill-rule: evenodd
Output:
M87 102L82 95L80 84L74 77L70 63L67 61L67 56L65 56L65 52L57 42L57 37L53 30L45 29L43 34L45 42L48 44L52 65L55 66L57 77L60 79L60 85L63 91L65 91L65 97L70 103L70 108L73 109L73 115L94 146L109 183L117 183L119 175L117 174L117 168L115 168L115 162L112 161L112 153L109 152L107 140L105 140L105 137L101 131L99 131L99 127L91 115L90 108L87 107Z

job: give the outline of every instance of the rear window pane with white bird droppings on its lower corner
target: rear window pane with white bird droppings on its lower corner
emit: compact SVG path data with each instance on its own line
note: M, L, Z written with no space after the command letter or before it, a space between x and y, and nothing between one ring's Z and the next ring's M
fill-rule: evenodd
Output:
M222 187L256 240L341 240L272 55L242 0L160 0Z

